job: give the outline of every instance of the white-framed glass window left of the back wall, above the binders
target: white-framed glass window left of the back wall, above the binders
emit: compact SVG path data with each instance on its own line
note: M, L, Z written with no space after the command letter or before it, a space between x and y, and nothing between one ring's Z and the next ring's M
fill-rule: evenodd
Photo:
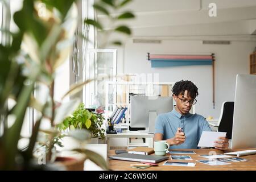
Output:
M117 75L117 49L88 49L86 52L84 80L94 80L85 86L84 103L88 108L105 107L106 80L115 81Z

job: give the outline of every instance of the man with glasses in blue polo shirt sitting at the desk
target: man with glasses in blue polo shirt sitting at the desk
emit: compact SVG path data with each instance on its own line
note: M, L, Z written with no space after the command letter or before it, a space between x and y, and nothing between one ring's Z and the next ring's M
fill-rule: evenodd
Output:
M166 140L171 149L197 148L203 131L211 131L208 122L199 114L191 114L192 105L196 104L197 87L191 81L178 81L172 88L172 97L176 102L170 113L159 114L155 122L154 140ZM227 150L226 137L220 137L215 148Z

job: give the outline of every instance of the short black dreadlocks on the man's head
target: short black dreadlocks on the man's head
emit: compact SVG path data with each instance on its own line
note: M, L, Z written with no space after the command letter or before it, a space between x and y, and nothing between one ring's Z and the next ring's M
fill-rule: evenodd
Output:
M188 90L188 97L196 98L198 96L197 87L189 80L177 81L172 88L172 94L178 96L179 94L184 95L185 90Z

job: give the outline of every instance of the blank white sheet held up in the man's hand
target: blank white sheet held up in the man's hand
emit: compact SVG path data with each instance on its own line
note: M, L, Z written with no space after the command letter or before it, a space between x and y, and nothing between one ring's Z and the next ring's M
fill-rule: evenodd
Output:
M214 141L219 140L218 137L225 137L226 132L203 131L197 147L214 147Z

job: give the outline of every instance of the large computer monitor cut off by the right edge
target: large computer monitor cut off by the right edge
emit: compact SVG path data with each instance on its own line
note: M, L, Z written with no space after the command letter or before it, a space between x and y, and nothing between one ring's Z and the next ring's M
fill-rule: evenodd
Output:
M256 147L256 75L237 75L231 148Z

